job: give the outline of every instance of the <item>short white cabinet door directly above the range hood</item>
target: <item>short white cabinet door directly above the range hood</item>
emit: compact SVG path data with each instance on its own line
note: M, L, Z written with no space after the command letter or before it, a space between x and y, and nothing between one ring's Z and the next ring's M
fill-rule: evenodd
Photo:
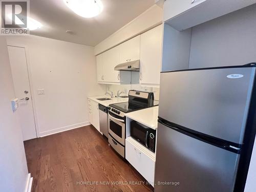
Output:
M120 63L140 59L140 36L136 36L120 45Z

